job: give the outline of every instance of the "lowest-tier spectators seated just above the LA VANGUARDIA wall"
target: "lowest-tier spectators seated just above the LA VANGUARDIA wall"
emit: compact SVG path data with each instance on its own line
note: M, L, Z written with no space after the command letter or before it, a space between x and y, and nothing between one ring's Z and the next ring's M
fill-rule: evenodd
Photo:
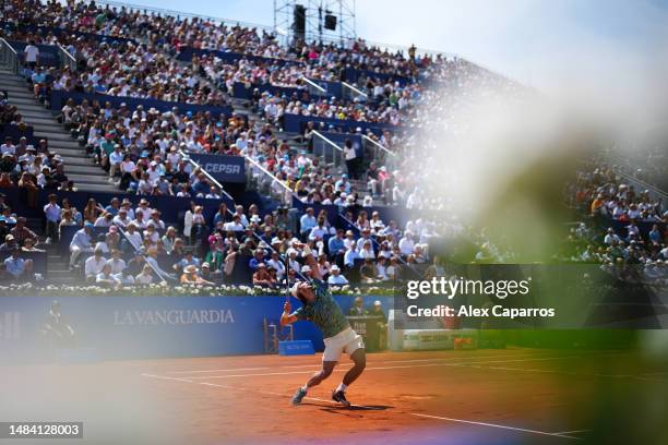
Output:
M403 230L396 221L365 211L355 218L348 211L349 229L344 229L329 222L326 211L315 216L308 208L295 220L284 207L261 217L254 204L248 211L220 204L207 218L202 206L192 203L182 220L169 224L146 199L136 206L128 199L115 197L106 206L91 199L81 211L56 194L48 200L45 242L69 243L70 267L81 270L86 281L102 285L178 281L276 288L285 285L288 274L290 280L311 276L305 245L314 252L331 285L391 284L401 276L419 275L432 261L430 241L440 236L434 221L408 221ZM21 218L16 225L24 227ZM33 245L38 241L32 231L28 237L22 230L12 230L9 240L20 245L25 238L34 238Z

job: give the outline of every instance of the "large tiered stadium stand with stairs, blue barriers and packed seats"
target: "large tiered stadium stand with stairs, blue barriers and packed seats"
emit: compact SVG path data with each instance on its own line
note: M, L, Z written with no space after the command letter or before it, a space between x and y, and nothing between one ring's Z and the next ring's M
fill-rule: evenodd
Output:
M442 171L417 149L434 142L411 129L452 127L443 119L465 112L462 92L522 94L464 59L415 48L286 46L267 29L202 17L5 3L1 124L19 146L2 153L37 143L49 167L31 185L23 172L35 167L16 167L19 178L0 163L9 213L36 233L14 239L24 260L10 261L12 279L273 288L286 263L293 279L310 273L294 240L318 252L333 285L422 276L437 267L430 246L464 228L413 175ZM589 205L596 178L574 185L577 205ZM640 221L641 236L663 230L645 255L666 260L663 204L639 196L612 216L642 206L658 228ZM512 261L477 241L470 261Z

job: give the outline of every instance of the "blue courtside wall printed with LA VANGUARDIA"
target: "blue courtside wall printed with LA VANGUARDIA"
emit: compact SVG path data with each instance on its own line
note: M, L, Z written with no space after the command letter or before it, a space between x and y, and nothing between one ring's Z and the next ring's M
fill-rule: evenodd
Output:
M347 312L354 296L336 296ZM0 297L0 354L4 363L46 350L40 329L47 321L49 297ZM285 297L62 297L62 316L75 330L76 346L97 350L103 359L206 357L264 352L263 322L281 317ZM363 297L365 305L380 300L385 313L391 297ZM299 302L293 299L295 306ZM310 322L295 324L296 340L324 345Z

